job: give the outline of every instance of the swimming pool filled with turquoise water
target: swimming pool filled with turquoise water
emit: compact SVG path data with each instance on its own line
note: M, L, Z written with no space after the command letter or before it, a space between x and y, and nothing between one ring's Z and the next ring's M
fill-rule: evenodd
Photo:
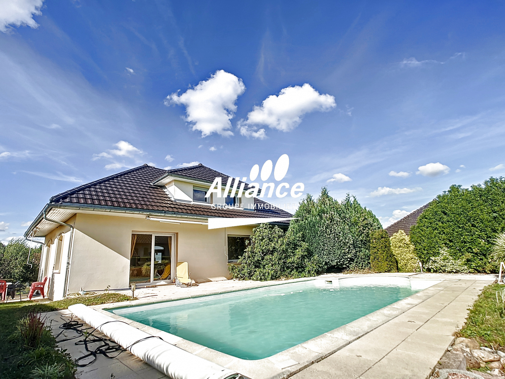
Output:
M405 277L315 279L110 312L254 360L304 343L436 282Z

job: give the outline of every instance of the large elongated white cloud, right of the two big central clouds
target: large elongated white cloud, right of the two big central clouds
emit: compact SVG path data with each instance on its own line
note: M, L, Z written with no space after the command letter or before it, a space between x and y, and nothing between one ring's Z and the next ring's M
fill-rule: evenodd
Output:
M237 127L244 136L265 138L265 129L255 131L257 125L287 132L298 126L306 113L327 112L334 107L334 96L320 94L309 83L295 85L281 89L278 96L270 95L247 114L246 120L240 120Z

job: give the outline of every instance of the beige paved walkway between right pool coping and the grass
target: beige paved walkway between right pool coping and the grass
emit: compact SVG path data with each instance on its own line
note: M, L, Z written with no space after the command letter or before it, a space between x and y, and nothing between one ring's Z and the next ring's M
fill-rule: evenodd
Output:
M491 282L454 278L429 299L293 378L426 379L462 326L467 308Z

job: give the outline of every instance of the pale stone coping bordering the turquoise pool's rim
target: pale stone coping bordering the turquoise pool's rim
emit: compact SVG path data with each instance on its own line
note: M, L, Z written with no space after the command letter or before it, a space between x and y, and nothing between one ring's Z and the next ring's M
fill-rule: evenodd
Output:
M382 277L405 277L408 279L415 279L410 275L380 275ZM362 277L361 275L353 275L347 276L350 277ZM268 285L258 285L246 289L238 289L231 291L216 291L215 293L208 293L205 295L194 295L194 296L181 296L179 298L173 298L170 300L164 301L145 301L138 302L135 301L131 306L139 306L139 305L147 305L147 304L155 304L155 303L163 303L166 301L174 301L174 300L182 300L182 299L191 299L197 298L201 296L209 296L209 295L218 295L224 293L233 293L238 291L245 291L250 289L257 288L266 288L272 286L283 285L287 283L294 282L302 282L314 280L316 278L300 278L294 280L286 280L279 283L269 283ZM324 279L342 279L342 277L333 277L333 276L325 276ZM423 280L423 279L421 279ZM180 337L167 333L166 331L144 325L142 323L130 320L128 318L119 316L115 313L109 312L110 309L124 308L127 307L128 304L125 303L115 303L114 306L110 306L110 304L104 304L100 306L92 306L91 308L103 313L107 314L110 317L115 319L124 321L130 324L133 327L136 327L140 330L143 330L145 333L150 334L152 336L161 337L166 342L173 344L191 354L197 355L201 358L207 359L211 362L220 364L226 368L235 370L245 377L254 378L254 379L284 379L289 376L294 375L295 373L309 367L310 365L321 361L322 359L330 356L336 351L342 349L347 346L351 342L356 341L357 339L363 337L364 335L370 333L370 331L376 329L377 327L383 325L384 323L394 319L395 317L405 313L409 309L419 305L425 300L431 298L435 294L439 293L447 286L449 286L450 282L453 281L451 279L435 279L440 280L438 283L421 290L411 296L403 298L393 304L390 304L386 307L383 307L377 311L369 313L363 317L358 318L357 320L351 321L345 325L337 327L333 330L328 331L320 336L317 336L309 341L301 343L299 345L293 346L289 349L286 349L282 352L274 354L270 357L258 359L258 360L245 360L240 359L211 348L208 348L203 345L196 344L191 341L184 340ZM133 303L133 302L126 302Z

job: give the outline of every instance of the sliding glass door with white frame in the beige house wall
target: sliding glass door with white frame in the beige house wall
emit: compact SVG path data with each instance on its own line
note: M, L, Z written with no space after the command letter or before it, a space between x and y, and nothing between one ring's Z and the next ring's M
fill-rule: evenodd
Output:
M175 234L132 233L130 283L173 281Z

